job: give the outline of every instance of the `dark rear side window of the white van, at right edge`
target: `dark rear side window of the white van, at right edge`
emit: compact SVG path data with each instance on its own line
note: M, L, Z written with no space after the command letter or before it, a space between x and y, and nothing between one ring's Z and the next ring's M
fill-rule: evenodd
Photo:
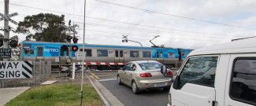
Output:
M236 59L229 96L236 101L256 105L256 59Z

